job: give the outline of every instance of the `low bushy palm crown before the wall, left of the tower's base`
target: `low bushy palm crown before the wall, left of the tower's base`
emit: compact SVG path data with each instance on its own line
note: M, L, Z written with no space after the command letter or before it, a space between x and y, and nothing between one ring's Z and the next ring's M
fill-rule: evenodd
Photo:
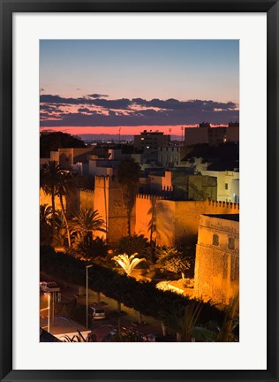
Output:
M81 209L79 214L72 218L70 223L71 233L84 241L87 237L94 237L94 232L99 231L105 233L104 220L99 215L98 210Z

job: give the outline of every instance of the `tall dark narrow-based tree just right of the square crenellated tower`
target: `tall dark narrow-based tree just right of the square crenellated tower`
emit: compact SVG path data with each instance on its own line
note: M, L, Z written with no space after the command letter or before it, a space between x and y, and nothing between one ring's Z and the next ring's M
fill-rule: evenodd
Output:
M117 180L122 189L127 212L128 236L131 236L131 217L139 187L139 164L133 158L124 158L118 164Z

